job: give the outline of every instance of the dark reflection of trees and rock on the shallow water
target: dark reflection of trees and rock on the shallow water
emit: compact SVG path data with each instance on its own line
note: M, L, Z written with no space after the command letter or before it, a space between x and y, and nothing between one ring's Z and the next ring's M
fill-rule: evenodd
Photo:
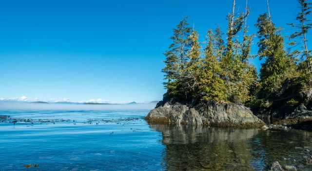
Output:
M168 171L263 171L276 160L299 165L304 158L296 146L312 145L311 133L303 131L150 126L162 133L164 167Z

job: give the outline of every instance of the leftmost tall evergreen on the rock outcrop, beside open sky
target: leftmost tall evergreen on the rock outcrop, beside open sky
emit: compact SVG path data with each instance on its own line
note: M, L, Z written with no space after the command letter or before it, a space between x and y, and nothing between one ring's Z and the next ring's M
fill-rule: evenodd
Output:
M169 50L164 53L166 59L162 71L165 73L166 95L170 97L179 98L184 94L181 89L181 78L185 75L187 52L190 50L191 28L188 25L187 17L184 17L174 29L174 35L171 37L173 42Z

